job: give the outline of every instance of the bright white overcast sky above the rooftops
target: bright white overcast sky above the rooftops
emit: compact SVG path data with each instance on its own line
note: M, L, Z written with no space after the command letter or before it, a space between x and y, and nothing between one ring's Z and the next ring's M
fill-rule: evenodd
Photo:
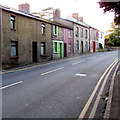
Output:
M0 0L0 4L18 9L22 3L30 4L30 12L40 12L47 7L60 8L61 17L66 18L72 13L79 13L83 21L92 27L106 32L110 29L110 23L113 22L114 13L103 13L99 8L100 0Z

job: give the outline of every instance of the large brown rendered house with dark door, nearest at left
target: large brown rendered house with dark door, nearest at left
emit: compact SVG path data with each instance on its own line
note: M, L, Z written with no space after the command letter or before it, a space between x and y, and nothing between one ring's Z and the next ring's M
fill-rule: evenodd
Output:
M3 67L51 59L52 24L27 11L0 6Z

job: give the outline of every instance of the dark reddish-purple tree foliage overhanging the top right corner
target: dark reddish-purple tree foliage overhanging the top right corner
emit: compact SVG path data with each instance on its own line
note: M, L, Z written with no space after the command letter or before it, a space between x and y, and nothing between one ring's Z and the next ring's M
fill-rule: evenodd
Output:
M104 2L103 2L104 1ZM114 22L116 25L120 24L120 0L117 0L118 2L112 2L112 0L101 0L99 2L100 8L103 8L104 13L109 11L109 12L114 12L115 17L114 17Z

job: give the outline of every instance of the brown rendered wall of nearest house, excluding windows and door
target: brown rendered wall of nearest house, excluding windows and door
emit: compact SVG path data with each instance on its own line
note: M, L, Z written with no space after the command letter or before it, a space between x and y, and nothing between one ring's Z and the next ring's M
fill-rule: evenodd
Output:
M10 28L10 17L15 16L15 29ZM2 13L2 63L15 66L32 63L32 42L37 42L37 62L47 60L52 55L51 24L3 10ZM42 34L42 23L46 31ZM18 42L18 58L11 57L11 41ZM45 42L46 56L40 55L40 44Z

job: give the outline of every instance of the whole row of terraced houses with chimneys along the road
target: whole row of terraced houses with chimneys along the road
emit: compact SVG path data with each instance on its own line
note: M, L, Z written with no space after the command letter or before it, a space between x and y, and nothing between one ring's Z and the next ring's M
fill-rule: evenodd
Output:
M29 7L0 5L3 68L96 52L99 43L104 46L103 33L84 23L78 13L63 19L57 10L50 21L30 14Z

